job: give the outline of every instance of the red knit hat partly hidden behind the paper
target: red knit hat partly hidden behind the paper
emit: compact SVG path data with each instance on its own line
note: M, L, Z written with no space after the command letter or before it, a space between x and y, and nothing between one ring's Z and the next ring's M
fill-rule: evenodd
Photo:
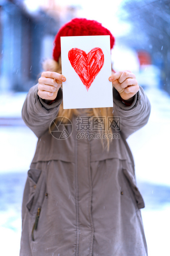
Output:
M58 31L54 40L53 59L58 61L61 54L61 36L110 36L110 49L115 43L114 36L101 23L85 18L75 18L64 24Z

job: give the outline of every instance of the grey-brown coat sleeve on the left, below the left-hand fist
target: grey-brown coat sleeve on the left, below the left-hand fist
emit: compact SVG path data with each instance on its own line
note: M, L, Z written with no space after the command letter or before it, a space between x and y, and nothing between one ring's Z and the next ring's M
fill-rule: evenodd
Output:
M30 88L22 108L22 118L25 124L41 137L48 130L51 121L57 116L62 102L62 89L58 91L56 101L51 105L46 104L38 94L38 85Z

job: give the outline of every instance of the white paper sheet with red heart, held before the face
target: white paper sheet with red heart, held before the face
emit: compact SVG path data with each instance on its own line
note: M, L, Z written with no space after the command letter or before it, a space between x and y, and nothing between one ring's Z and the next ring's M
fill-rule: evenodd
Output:
M81 64L77 65L78 55L75 51L77 52L78 50L74 48L81 50L79 50L79 56L83 61L85 60L85 62L80 62ZM95 49L91 52L94 48L99 49ZM83 53L85 57L81 56L82 51L85 52L85 54ZM62 83L64 109L113 107L112 83L108 80L111 75L110 36L61 37L61 57L62 74L67 79ZM94 64L88 69L89 65L86 60L88 61L90 58L95 59L95 57L96 60ZM104 61L102 66L103 57ZM96 64L98 61L99 64ZM88 79L89 73L90 76L92 75L92 69L95 67L95 70L97 69L97 71L99 71L94 81L92 81L90 88L87 88L87 84L83 84L83 81L78 75L78 72L81 73L83 63L85 63L84 71L85 69L88 70L85 76L80 76L84 77L82 79L86 78L87 83L90 80ZM79 70L76 72L76 69Z

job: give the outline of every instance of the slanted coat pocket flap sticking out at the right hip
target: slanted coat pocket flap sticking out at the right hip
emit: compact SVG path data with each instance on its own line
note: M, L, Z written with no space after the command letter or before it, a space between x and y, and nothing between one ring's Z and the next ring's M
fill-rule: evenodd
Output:
M138 187L136 187L136 181L133 177L132 173L129 172L127 169L123 169L124 176L129 183L129 189L133 192L133 196L135 198L136 204L139 209L145 207L144 200L142 198L142 195L140 194L140 191L138 190Z

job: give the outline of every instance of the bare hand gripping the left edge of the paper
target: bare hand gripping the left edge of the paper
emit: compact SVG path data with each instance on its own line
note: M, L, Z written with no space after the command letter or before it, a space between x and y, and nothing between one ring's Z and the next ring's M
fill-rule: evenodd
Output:
M39 97L44 100L55 100L62 82L65 81L66 78L62 74L51 71L42 72L38 80Z

